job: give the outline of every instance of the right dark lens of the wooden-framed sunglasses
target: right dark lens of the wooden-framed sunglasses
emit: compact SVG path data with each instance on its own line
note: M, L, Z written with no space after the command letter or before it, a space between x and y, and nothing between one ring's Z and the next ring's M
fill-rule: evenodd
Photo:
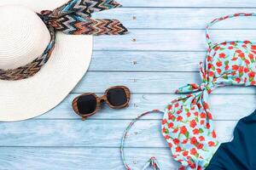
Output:
M128 100L124 88L113 88L108 90L107 99L113 106L125 105Z

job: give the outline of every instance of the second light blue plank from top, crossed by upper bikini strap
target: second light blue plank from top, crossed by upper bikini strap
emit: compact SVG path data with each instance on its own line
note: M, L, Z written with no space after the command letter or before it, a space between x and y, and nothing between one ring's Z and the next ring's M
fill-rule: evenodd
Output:
M255 8L116 8L94 14L118 18L128 28L205 29L208 22L227 14L254 13ZM172 14L172 16L170 16ZM237 17L218 22L214 29L255 29L256 17Z

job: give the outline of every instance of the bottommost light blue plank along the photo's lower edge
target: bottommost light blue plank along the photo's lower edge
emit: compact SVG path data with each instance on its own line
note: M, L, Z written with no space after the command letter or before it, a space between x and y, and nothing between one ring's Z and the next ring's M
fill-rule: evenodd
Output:
M150 156L156 156L163 169L177 168L168 149L125 149L134 170L141 170ZM0 148L0 168L5 170L125 170L119 148Z

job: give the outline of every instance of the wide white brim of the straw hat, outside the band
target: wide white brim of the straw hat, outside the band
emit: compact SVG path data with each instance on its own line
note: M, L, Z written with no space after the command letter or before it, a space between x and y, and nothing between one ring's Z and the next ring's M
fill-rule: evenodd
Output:
M63 3L67 0L0 1L0 5L22 4L35 11L57 8ZM41 71L20 81L0 80L0 121L14 122L40 116L60 104L88 70L92 44L92 36L57 32L55 49Z

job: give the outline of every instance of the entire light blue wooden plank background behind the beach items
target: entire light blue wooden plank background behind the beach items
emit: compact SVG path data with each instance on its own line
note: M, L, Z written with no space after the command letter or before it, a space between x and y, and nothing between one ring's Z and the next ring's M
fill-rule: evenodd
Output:
M200 83L197 65L205 59L204 26L225 14L256 12L249 0L119 0L124 8L95 14L118 18L131 33L95 37L90 70L61 105L37 118L0 123L1 170L125 169L119 156L120 139L131 119L143 111L163 110L177 97L176 88ZM256 19L219 23L215 41L256 41ZM72 99L84 92L101 95L113 85L131 88L131 105L120 111L103 106L82 122L73 113ZM229 141L237 120L255 109L255 88L221 88L210 97L220 141ZM177 169L160 134L161 116L148 116L131 129L125 156L141 169L156 156L163 169Z

